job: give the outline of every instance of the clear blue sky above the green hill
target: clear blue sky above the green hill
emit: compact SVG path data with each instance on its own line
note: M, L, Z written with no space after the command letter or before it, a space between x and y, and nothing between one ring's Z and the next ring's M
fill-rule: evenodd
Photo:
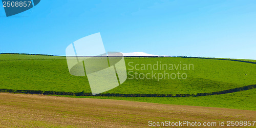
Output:
M6 17L0 52L65 55L101 33L106 51L256 59L256 1L41 0Z

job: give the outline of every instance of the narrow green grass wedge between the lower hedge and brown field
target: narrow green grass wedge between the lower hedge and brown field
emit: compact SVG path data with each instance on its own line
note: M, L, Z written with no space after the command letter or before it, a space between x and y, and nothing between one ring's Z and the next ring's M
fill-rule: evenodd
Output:
M256 111L256 89L222 95L199 97L98 97L98 96L63 96L76 98L117 99L140 102L153 102L177 105L209 106L216 108Z

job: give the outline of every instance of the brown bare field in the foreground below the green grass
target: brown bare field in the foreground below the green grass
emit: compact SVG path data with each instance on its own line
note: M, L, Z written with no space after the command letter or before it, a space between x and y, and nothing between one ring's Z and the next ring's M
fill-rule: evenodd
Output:
M0 93L0 127L145 127L148 121L255 120L256 111ZM255 124L254 124L255 126Z

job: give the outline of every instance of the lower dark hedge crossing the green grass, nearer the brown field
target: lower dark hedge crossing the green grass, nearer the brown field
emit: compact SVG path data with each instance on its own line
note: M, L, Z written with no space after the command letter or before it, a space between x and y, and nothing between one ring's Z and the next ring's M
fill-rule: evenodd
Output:
M211 93L197 93L197 94L118 94L118 93L101 93L95 96L114 96L114 97L190 97L190 96L209 96L209 95L220 95L233 92L240 92L256 88L256 84L249 86L217 91ZM43 95L73 95L73 96L92 96L92 93L85 93L84 91L79 93L73 92L56 92L56 91L36 91L36 90L12 90L12 89L0 89L0 92L9 93L25 93L25 94L43 94Z

